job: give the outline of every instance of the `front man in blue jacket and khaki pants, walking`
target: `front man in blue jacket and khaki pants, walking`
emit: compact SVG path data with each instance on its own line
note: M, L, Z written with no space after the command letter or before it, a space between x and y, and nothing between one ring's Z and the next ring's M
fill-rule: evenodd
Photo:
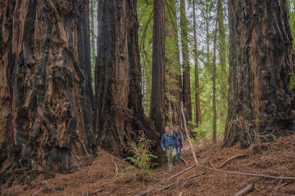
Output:
M173 133L170 133L169 126L166 126L165 134L161 139L161 147L167 155L169 172L173 172L173 165L175 165L176 161L176 147L174 140L178 142L176 136Z

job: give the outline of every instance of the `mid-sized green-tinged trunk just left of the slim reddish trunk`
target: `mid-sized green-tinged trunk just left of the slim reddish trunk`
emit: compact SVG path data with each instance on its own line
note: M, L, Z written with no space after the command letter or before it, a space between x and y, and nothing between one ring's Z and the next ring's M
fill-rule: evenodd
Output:
M186 108L186 121L193 119L191 112L191 77L189 68L189 44L187 39L187 19L185 0L180 0L181 48L183 66L183 103Z

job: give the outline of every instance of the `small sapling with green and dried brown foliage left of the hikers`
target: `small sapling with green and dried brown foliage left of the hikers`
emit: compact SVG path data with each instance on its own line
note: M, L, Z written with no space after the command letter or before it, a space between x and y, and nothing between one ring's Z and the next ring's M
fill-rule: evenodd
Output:
M138 143L129 143L129 151L133 154L132 157L123 159L128 160L133 164L133 167L138 168L138 173L142 180L149 180L151 175L151 168L157 163L151 163L152 158L158 158L150 152L150 146L153 145L151 140L146 140L144 136L138 138Z

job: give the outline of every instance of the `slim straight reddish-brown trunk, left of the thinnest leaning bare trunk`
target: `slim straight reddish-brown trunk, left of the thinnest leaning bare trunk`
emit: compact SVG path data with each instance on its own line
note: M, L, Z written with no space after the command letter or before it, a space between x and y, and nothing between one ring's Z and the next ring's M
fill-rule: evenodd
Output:
M196 124L202 123L201 119L201 104L199 94L199 68L198 68L198 51L197 51L197 37L196 37L196 14L195 14L195 0L193 0L193 23L194 23L194 60L195 60L195 99L196 99Z

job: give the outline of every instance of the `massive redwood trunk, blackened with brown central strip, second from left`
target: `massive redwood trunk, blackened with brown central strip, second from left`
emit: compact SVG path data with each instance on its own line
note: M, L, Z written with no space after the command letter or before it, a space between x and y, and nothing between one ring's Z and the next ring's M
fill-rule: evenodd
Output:
M160 137L142 107L136 4L137 0L98 4L94 130L98 145L118 157L141 131L155 141Z

